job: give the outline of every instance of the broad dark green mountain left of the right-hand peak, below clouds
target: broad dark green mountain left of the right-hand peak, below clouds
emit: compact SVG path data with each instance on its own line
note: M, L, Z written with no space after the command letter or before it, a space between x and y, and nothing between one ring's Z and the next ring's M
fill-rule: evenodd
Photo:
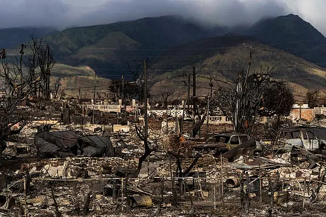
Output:
M173 46L221 36L227 31L223 26L207 29L180 17L162 16L69 28L45 40L61 63L88 65L100 75L112 77L128 73L127 62L138 65L139 60L153 59Z

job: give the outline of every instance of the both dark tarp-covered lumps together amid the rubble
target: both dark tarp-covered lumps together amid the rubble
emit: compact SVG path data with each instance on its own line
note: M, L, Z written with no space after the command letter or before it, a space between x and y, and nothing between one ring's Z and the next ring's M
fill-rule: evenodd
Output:
M78 139L74 131L43 131L35 134L34 143L37 147L37 157L65 158L84 155L87 157L114 157L110 139L97 135Z

